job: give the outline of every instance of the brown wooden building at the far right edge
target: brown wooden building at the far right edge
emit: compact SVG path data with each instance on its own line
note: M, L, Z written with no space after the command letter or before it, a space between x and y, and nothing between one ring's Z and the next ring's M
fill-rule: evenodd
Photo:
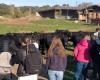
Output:
M100 6L99 5L91 5L84 8L79 8L78 10L78 20L83 20L86 22L90 22L94 19L100 19Z

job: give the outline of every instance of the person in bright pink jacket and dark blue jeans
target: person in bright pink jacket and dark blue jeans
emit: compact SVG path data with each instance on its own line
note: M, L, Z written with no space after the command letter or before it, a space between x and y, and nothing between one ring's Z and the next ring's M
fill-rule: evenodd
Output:
M76 69L75 69L75 80L86 80L87 66L91 61L90 58L90 36L88 34L84 35L84 38L77 43L74 48L74 57L77 61Z

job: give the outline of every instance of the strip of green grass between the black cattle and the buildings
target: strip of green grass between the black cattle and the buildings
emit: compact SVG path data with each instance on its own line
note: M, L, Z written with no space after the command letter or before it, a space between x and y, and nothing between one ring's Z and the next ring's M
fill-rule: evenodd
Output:
M9 32L53 32L56 29L69 31L94 31L96 27L84 23L74 23L64 19L43 19L28 24L0 24L0 34Z

